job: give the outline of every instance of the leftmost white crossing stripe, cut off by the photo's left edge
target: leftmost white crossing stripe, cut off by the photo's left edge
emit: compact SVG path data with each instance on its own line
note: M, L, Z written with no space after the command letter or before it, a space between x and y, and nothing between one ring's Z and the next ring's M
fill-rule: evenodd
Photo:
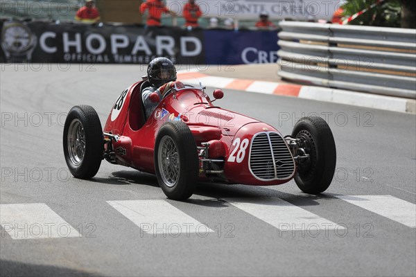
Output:
M34 238L80 238L81 235L44 203L1 204L1 230L13 240Z

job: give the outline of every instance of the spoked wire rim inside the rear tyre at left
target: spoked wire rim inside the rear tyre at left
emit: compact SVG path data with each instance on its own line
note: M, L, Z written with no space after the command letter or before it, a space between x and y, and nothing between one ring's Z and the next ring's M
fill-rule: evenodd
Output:
M85 156L85 132L80 120L72 120L67 139L69 159L74 166L79 166Z

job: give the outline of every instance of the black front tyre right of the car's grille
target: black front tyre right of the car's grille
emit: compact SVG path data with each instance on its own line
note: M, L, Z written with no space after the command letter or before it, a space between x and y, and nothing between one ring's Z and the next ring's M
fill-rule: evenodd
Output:
M309 160L297 162L297 186L304 193L324 192L336 166L336 146L329 125L318 116L304 117L297 121L292 136L301 139L300 147L309 154Z

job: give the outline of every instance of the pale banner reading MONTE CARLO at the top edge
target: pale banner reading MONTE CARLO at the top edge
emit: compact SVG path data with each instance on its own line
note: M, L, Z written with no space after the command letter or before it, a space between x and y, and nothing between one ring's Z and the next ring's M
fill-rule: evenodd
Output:
M202 17L258 19L267 12L270 19L331 20L343 1L340 0L196 0ZM167 0L169 10L182 15L187 0Z

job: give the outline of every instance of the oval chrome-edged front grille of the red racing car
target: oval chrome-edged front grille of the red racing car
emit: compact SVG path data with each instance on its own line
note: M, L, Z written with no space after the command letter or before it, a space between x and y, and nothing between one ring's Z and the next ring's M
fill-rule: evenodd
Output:
M276 132L261 132L253 136L249 166L254 177L267 181L288 179L295 172L291 151Z

